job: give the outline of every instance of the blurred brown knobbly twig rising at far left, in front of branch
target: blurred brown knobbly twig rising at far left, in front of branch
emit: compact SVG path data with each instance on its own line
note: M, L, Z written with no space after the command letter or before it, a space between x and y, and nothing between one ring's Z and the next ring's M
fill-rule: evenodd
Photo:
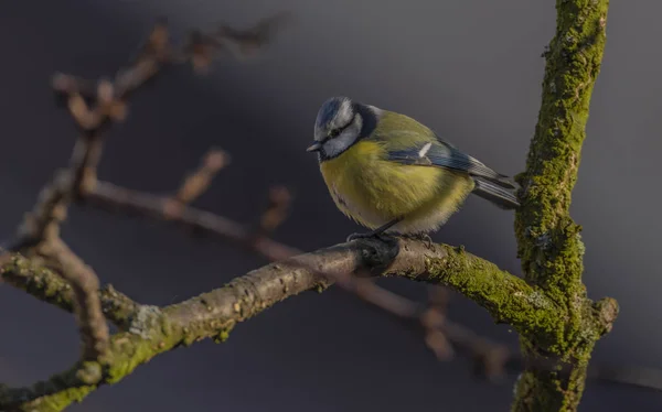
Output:
M183 45L175 45L164 21L158 22L137 55L127 67L119 69L113 79L96 82L73 75L55 74L52 87L65 101L65 106L79 129L70 165L57 171L53 181L42 188L32 212L25 214L11 251L38 256L71 284L74 290L74 308L77 315L83 358L96 359L108 346L102 302L97 294L99 280L60 239L60 225L65 220L68 206L97 191L97 166L103 150L103 131L113 122L127 117L127 99L130 93L154 77L167 65L191 62L194 68L211 64L212 56L231 44L255 48L265 45L274 33L274 26L282 15L260 21L245 31L221 25L211 34L200 32L189 36ZM170 203L162 202L163 210L177 214L177 207L185 205L209 186L213 175L224 166L227 156L212 151L203 166L189 176Z

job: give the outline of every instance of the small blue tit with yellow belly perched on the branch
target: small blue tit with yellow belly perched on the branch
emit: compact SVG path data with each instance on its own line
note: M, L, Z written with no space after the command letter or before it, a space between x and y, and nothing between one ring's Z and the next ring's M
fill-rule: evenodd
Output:
M428 237L470 193L504 209L520 204L516 186L418 121L333 97L320 108L314 142L338 208L372 229L351 239L399 234Z

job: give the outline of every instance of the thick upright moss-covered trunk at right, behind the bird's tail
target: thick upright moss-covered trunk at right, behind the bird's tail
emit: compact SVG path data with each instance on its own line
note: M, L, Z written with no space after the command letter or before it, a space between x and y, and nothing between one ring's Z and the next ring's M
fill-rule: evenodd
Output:
M514 411L576 410L592 347L609 328L596 327L596 316L606 311L613 319L618 308L606 300L587 310L581 228L569 216L590 95L605 48L608 6L608 0L556 1L557 28L545 53L538 122L526 171L517 176L523 189L515 231L525 279L566 317L564 333L547 348L522 336L524 356L531 365L552 358L564 373L527 368L517 383Z

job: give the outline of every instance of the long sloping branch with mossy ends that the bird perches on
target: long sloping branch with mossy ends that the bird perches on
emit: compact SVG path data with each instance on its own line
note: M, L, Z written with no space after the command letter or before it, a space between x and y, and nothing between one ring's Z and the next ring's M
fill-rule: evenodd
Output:
M116 302L130 301L118 301L121 295L102 292L103 302L114 302L119 307L113 313L126 326L126 332L111 337L108 356L78 362L29 389L0 387L0 410L60 411L98 386L121 380L163 351L207 337L224 340L237 322L300 292L323 290L346 273L447 284L485 307L498 322L509 323L526 336L545 336L552 341L563 327L556 304L536 288L463 249L428 248L413 240L361 240L266 265L224 288L163 308L135 303L117 305ZM65 310L72 307L71 290L63 281L24 258L13 257L6 262L1 275L40 299Z

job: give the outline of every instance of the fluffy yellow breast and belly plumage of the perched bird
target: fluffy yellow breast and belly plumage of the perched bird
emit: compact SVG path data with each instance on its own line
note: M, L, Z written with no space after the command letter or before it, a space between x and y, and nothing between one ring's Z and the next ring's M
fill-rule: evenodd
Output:
M386 160L383 143L363 140L320 165L338 208L369 228L404 216L393 230L429 231L473 188L467 175Z

